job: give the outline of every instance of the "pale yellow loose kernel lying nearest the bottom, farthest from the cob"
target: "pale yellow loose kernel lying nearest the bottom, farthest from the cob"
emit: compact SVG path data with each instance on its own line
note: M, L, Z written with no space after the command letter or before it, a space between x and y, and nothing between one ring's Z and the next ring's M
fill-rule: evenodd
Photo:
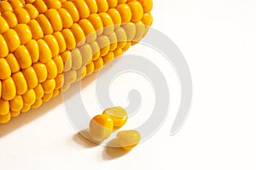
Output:
M141 135L136 130L124 130L117 134L119 146L125 150L133 149L141 140Z

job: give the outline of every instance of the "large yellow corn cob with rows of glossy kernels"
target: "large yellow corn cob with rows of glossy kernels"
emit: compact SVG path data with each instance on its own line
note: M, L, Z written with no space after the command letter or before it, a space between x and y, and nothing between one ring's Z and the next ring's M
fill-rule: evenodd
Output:
M102 69L147 33L152 0L0 1L0 123Z

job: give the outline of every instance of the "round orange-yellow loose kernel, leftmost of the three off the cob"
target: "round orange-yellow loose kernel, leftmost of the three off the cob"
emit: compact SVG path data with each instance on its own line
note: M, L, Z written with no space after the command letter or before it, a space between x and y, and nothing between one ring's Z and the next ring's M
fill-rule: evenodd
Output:
M113 121L108 115L94 116L90 121L90 135L96 141L108 139L113 131Z

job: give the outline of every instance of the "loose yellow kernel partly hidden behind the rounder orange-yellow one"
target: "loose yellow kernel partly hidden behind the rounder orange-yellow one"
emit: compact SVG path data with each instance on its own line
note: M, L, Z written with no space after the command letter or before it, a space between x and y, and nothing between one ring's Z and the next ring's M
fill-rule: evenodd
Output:
M114 129L119 129L120 127L123 127L128 119L128 115L125 109L120 106L108 108L103 111L102 114L106 114L111 117L111 119L113 120Z

